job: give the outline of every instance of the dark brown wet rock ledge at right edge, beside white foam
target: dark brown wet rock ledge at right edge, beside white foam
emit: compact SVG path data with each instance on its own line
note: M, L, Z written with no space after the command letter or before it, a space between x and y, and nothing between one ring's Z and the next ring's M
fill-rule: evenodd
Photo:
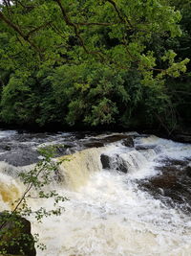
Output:
M191 213L191 158L161 159L159 175L140 180L139 187L164 204Z

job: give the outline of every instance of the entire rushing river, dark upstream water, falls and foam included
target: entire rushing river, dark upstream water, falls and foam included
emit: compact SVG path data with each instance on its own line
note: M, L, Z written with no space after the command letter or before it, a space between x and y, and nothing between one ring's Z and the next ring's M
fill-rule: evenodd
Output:
M70 154L65 182L51 189L69 198L65 211L32 221L53 256L190 256L191 145L137 132L116 134L0 131L0 211L22 195L16 177L54 145ZM31 199L33 209L52 199Z

